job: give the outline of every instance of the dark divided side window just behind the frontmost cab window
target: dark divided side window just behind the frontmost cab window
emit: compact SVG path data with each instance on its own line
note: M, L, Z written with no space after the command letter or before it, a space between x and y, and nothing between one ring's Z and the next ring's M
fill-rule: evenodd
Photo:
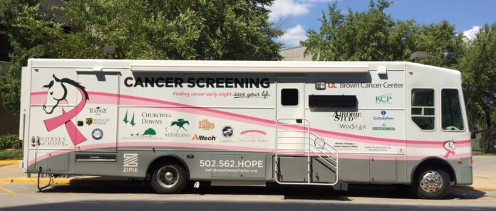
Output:
M434 129L434 90L412 90L412 120L420 129Z

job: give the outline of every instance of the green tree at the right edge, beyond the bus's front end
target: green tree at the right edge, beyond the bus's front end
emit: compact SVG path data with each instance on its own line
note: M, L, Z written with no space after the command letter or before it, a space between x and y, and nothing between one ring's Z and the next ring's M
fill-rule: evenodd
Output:
M492 110L493 128L496 120L496 23L480 28L477 38L470 41L458 65L462 71L467 113L475 128L485 126L485 109Z

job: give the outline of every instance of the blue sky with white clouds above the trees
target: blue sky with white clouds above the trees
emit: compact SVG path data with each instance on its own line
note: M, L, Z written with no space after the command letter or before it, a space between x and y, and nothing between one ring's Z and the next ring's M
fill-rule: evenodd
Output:
M321 12L337 1L341 11L365 11L370 0L275 0L269 8L269 21L282 23L285 33L278 42L283 48L299 46L306 39L306 31L319 31ZM394 0L386 9L393 20L415 19L417 23L439 23L442 20L455 25L457 32L463 32L469 39L485 23L496 22L495 0Z

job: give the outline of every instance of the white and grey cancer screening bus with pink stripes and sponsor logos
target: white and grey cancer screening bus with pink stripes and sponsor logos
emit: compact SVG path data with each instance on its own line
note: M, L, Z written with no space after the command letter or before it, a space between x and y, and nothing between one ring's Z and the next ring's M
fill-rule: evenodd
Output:
M157 193L378 183L441 198L472 183L461 80L405 62L31 59L23 168L146 178Z

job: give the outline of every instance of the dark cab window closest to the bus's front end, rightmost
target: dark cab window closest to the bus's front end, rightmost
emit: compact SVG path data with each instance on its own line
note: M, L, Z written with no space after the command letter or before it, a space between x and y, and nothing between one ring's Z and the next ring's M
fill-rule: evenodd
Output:
M441 90L441 128L445 131L463 131L462 108L458 90Z

